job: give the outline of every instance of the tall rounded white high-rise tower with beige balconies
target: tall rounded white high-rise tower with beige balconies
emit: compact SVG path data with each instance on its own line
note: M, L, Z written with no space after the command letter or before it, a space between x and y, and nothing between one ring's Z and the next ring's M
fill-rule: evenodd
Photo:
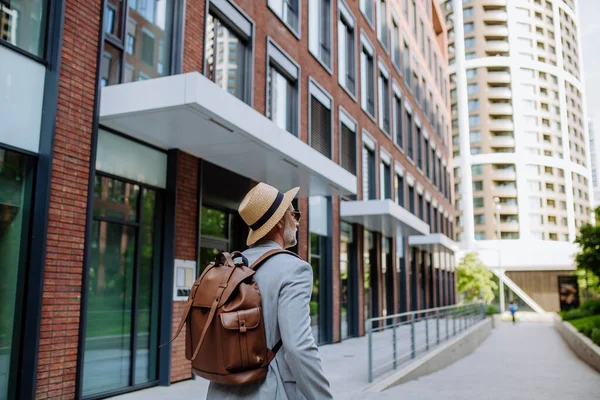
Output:
M576 2L441 4L461 249L530 308L558 310L592 198Z

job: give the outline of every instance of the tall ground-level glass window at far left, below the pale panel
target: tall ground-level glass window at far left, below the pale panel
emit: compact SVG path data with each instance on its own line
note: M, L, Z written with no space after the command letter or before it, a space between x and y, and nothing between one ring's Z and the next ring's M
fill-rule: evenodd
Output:
M33 167L31 157L0 148L0 399L18 397Z

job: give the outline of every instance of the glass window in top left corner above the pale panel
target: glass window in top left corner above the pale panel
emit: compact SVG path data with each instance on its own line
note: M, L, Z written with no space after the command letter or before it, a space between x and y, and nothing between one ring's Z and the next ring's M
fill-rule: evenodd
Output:
M45 0L0 1L0 42L43 58L48 3Z

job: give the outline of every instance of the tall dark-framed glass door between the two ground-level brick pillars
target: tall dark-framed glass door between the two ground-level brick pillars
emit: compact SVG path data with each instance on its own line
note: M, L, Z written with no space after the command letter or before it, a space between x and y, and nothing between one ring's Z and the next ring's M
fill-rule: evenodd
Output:
M158 379L162 210L161 191L96 176L83 397Z

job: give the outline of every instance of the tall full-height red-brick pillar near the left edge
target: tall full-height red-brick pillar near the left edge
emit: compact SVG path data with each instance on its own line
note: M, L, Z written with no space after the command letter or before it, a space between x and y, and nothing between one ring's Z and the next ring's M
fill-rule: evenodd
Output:
M100 3L92 0L65 5L37 399L75 397L100 11Z

